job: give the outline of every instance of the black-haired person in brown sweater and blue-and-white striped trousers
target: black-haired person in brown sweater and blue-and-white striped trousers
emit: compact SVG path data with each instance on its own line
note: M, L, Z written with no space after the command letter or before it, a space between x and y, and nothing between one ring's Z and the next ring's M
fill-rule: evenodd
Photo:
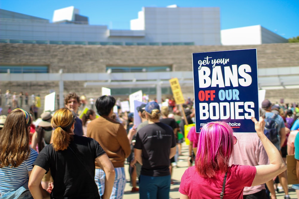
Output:
M115 181L111 198L123 198L126 185L124 170L125 158L131 153L130 141L136 130L132 129L127 135L122 124L110 118L113 114L115 98L103 95L96 101L99 118L92 120L87 125L87 136L94 138L102 146L113 166L115 167ZM98 186L99 194L103 195L105 188L105 173L95 163L96 171L94 180Z

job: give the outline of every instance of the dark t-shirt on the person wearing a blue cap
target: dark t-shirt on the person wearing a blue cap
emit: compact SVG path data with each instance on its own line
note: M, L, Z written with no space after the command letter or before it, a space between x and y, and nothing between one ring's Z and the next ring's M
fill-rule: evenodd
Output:
M139 129L134 148L142 150L141 175L170 175L170 148L176 146L173 129L161 122Z

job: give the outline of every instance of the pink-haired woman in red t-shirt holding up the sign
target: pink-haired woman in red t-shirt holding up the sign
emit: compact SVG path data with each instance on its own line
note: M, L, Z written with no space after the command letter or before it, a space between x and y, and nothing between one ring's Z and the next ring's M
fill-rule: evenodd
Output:
M265 121L251 118L270 160L268 165L231 165L237 139L226 122L206 124L199 135L195 166L189 167L181 178L181 199L243 198L245 186L263 184L286 170L277 148L264 135ZM250 142L250 140L248 140Z

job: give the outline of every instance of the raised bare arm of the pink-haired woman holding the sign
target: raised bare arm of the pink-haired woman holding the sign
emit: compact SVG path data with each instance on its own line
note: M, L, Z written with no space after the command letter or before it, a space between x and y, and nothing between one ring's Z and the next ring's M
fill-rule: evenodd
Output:
M257 121L254 117L251 118L254 122L254 127L259 136L266 153L269 157L270 164L268 165L257 165L255 166L257 172L251 186L263 184L273 179L278 174L286 170L286 164L284 163L279 151L271 143L271 141L264 134L265 121L260 117L260 121Z

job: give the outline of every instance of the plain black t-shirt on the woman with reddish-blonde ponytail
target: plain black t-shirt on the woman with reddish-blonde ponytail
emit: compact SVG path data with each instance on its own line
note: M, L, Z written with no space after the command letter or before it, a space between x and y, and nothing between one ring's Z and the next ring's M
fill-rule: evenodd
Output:
M45 146L33 165L51 170L54 180L51 198L100 198L94 182L94 161L103 154L105 151L94 139L74 135L63 151L55 151L52 144Z

